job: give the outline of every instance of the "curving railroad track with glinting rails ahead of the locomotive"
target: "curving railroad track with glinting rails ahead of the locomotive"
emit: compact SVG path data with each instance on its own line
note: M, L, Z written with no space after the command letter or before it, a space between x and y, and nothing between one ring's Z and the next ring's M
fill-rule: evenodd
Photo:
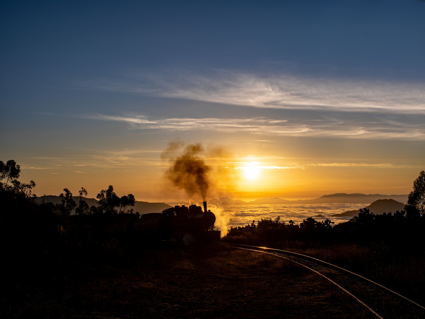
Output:
M425 307L373 282L363 276L344 268L329 264L320 259L266 247L229 244L235 248L249 251L269 253L295 262L305 268L323 276L334 285L348 293L374 315L381 319L425 319Z

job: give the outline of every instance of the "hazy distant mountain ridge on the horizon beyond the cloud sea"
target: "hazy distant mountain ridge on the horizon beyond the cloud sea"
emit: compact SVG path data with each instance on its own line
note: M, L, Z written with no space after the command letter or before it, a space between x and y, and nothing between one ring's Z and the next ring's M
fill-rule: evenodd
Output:
M378 199L394 199L398 202L407 202L406 195L381 195L381 194L346 194L336 193L330 195L323 195L315 199L298 199L287 200L280 198L261 198L255 199L252 202L244 202L240 199L231 199L228 197L218 199L222 205L261 205L261 204L325 204L325 203L345 203L345 204L367 204L374 202Z

